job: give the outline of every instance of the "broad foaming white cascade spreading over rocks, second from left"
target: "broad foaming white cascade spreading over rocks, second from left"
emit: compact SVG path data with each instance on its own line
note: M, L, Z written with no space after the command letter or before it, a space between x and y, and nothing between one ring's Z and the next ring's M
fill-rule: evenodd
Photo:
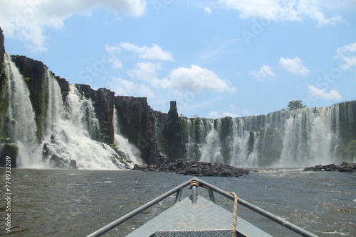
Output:
M66 106L63 106L58 82L49 72L47 79L48 98L51 99L43 121L46 130L43 131L42 146L46 161L59 158L68 161L70 167L70 160L75 160L81 169L124 169L125 164L118 160L115 150L90 138L93 132L98 132L92 101L82 97L75 86L70 85ZM87 130L89 128L91 131Z

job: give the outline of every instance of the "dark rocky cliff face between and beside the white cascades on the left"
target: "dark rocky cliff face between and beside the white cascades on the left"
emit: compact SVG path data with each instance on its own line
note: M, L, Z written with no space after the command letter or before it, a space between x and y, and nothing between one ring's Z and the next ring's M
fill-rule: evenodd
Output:
M2 67L4 53L4 35L0 28L1 91L6 87L6 77L3 74L4 68ZM36 114L37 136L38 140L41 141L43 139L41 138L42 131L46 129L41 126L46 126L43 119L46 119L47 101L50 97L46 80L48 69L43 62L25 56L11 57L28 86L31 104ZM61 88L63 103L66 103L70 85L66 79L54 74L53 76ZM100 126L100 134L94 134L93 140L107 144L114 143L115 132L112 120L114 109L116 109L122 135L140 149L141 158L144 162L152 165L167 160L174 161L178 158L184 158L184 144L182 143L182 133L179 131L179 117L175 102L171 103L171 109L166 114L153 111L147 104L146 98L115 97L115 93L109 89L95 90L85 84L75 84L75 87L83 97L93 101ZM161 154L167 155L167 158L164 158Z

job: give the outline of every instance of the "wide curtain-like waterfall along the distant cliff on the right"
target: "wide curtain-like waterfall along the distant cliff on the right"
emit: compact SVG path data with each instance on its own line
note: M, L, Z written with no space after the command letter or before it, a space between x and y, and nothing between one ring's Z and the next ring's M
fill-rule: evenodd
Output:
M238 167L305 167L339 162L340 133L345 133L345 126L351 128L353 119L350 105L342 111L340 106L283 109L244 118L181 118L186 126L186 154L192 160Z

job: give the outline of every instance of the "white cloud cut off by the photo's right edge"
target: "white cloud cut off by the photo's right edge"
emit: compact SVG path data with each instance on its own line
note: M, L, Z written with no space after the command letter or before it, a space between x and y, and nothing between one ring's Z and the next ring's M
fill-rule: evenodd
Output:
M356 42L344 45L336 50L336 58L342 60L340 69L343 71L356 68Z

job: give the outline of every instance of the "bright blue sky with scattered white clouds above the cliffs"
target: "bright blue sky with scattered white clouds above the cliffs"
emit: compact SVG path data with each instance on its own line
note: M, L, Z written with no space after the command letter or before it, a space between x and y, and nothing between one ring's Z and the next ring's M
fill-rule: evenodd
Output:
M0 0L6 51L218 118L356 99L356 1Z

